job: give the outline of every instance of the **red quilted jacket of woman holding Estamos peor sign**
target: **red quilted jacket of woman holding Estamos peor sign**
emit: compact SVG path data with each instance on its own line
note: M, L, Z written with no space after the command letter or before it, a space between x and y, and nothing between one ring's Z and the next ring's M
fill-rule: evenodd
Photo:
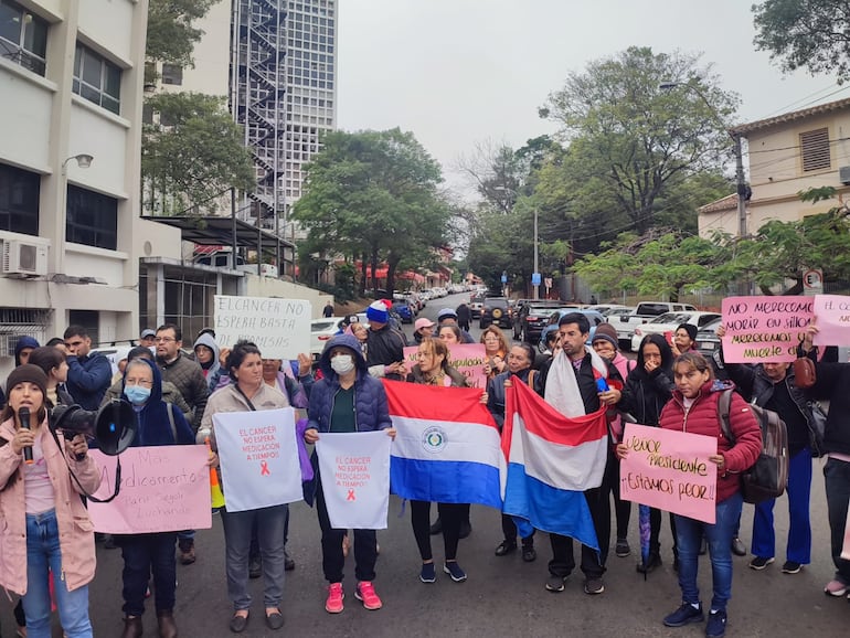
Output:
M741 489L739 474L751 468L762 453L762 429L750 405L740 394L733 392L729 410L730 428L735 437L733 446L721 430L718 416L718 400L721 393L712 385L713 382L708 382L700 389L697 401L688 411L684 408L682 393L674 390L673 397L661 411L660 426L665 429L716 437L718 454L725 460L723 474L718 472L716 502L720 503Z

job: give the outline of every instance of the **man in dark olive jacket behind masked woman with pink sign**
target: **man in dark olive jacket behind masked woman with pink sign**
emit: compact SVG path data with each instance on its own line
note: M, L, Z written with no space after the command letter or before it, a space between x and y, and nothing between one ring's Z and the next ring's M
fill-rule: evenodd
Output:
M173 383L183 395L193 411L190 423L192 432L198 432L210 390L201 366L183 354L182 345L183 333L179 326L163 323L157 328L157 364L162 372L162 380ZM180 562L191 565L195 562L194 530L178 532L177 538Z

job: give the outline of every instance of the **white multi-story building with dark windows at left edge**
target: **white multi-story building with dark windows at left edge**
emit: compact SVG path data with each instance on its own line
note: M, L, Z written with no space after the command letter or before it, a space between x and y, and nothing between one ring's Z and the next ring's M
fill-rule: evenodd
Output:
M147 0L0 0L0 375L20 336L138 336Z

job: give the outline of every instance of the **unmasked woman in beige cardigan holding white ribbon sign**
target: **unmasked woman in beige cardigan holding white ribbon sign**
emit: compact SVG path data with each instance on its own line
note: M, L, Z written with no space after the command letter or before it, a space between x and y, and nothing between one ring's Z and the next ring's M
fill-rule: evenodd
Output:
M227 352L224 368L231 383L210 395L206 410L201 419L201 429L210 430L210 443L217 450L213 415L220 412L251 412L255 410L277 410L288 407L289 401L276 387L263 381L263 358L259 349L248 341L240 341ZM217 462L217 461L214 461ZM224 495L225 501L227 495ZM229 512L227 506L221 509L224 527L224 564L227 572L227 596L233 603L233 617L230 629L241 634L248 625L251 594L248 593L248 561L251 534L257 528L259 556L263 565L265 588L263 603L266 613L266 626L280 629L284 616L280 603L284 597L284 576L286 568L286 519L289 506L273 506L241 512Z

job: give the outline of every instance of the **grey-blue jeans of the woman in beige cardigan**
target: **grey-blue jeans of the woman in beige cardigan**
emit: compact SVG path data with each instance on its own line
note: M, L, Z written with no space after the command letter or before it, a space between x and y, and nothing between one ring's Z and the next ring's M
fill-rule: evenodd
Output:
M224 566L227 573L227 597L233 609L248 609L248 554L251 530L256 522L259 556L263 560L263 605L279 607L284 598L284 527L289 506L274 506L244 512L229 512L222 508L224 527ZM341 547L341 545L340 545Z

